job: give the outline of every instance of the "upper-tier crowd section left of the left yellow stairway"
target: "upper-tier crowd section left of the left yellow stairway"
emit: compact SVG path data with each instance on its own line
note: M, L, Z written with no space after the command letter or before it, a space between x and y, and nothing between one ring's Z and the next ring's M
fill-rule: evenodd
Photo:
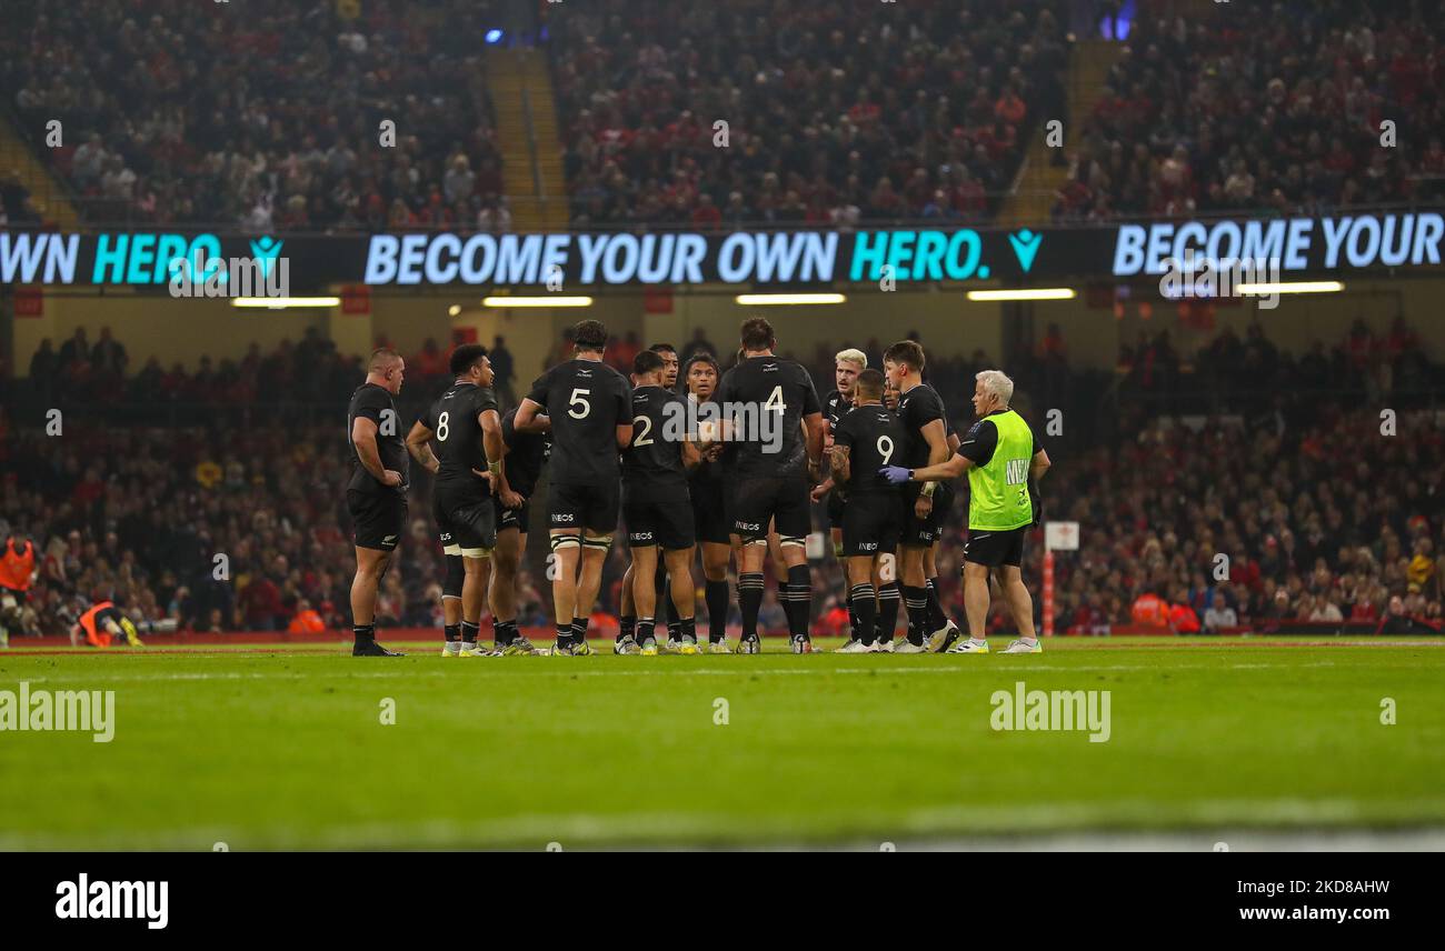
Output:
M61 120L64 145L39 152L90 217L250 231L499 227L480 39L499 4L364 3L348 20L342 4L257 0L241 25L212 6L6 4L6 106L36 143ZM257 56L275 68L257 72ZM383 147L383 120L394 147Z

